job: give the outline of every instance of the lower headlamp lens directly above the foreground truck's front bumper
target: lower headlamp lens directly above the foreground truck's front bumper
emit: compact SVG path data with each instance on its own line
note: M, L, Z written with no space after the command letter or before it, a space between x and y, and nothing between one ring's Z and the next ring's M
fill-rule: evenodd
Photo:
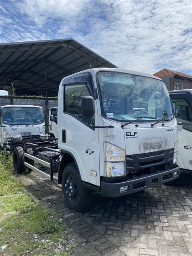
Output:
M125 175L125 163L124 162L106 162L106 175L107 177L118 177Z

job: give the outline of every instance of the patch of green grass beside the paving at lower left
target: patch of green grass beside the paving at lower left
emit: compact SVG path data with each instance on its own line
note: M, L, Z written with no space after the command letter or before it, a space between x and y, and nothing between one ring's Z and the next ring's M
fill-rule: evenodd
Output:
M33 201L0 152L0 255L67 256L66 228L58 216Z

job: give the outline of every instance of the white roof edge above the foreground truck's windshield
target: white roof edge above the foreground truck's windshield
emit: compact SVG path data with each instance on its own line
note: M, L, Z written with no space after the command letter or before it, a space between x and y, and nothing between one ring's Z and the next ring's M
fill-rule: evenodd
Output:
M158 79L158 80L162 81L162 79L160 79L159 77L155 77L155 76L147 74L147 73L142 73L142 72L138 72L138 71L134 71L134 70L128 70L128 69L124 69L124 68L90 68L90 69L86 69L86 70L80 71L78 73L75 73L73 75L69 75L68 77L64 77L62 79L62 81L65 79L68 79L68 78L76 77L77 75L80 75L80 74L86 73L86 72L90 72L90 73L92 73L92 75L95 76L96 73L98 73L99 71L120 72L120 73L126 73L126 74L130 74L130 75L150 77L150 78L154 78L154 79Z

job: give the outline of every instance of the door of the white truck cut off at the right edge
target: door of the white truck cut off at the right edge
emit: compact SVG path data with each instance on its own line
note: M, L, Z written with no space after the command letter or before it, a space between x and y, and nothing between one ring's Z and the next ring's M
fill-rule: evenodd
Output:
M192 122L192 105L187 98L171 98L177 123ZM182 169L192 170L192 125L183 125L179 132L179 156L177 164Z

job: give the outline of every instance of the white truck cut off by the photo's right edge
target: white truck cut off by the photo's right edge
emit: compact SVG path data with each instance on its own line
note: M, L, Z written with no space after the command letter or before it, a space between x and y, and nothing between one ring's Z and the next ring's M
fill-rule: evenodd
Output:
M192 173L192 89L169 92L177 123L183 124L179 132L177 164L181 171Z

